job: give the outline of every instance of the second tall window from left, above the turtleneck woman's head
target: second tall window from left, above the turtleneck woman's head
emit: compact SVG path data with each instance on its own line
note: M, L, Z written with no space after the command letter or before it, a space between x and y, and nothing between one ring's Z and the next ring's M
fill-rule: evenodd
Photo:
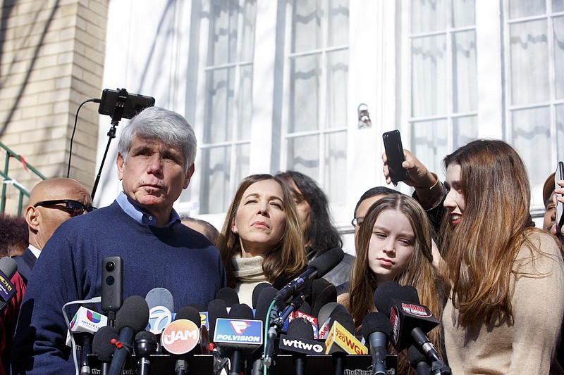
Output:
M316 179L337 203L346 195L348 1L295 0L290 20L286 169Z

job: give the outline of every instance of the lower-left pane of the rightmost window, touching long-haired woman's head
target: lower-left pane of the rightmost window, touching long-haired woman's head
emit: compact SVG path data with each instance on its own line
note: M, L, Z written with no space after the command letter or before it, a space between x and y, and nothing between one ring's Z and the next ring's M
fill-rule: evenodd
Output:
M553 172L552 163L549 163L553 142L550 139L550 109L543 107L514 110L511 118L511 144L525 162L531 183L543 184L546 176Z

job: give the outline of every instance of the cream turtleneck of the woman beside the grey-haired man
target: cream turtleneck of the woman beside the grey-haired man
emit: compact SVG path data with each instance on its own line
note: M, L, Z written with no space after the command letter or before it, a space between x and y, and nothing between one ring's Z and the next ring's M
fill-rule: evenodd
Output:
M235 277L235 291L239 295L239 303L245 303L252 308L252 291L260 283L268 282L262 271L262 255L242 258L240 254L231 258L233 276Z

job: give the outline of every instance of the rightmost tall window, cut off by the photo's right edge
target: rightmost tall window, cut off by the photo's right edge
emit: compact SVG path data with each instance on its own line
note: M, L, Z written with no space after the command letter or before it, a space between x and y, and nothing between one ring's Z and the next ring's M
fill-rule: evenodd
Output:
M540 198L564 155L564 3L509 0L504 13L508 136Z

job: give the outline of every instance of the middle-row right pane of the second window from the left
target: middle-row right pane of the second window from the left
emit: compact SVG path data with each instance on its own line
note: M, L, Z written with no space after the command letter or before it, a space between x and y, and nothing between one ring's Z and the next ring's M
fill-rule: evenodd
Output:
M327 127L346 127L348 49L327 53L327 64Z

